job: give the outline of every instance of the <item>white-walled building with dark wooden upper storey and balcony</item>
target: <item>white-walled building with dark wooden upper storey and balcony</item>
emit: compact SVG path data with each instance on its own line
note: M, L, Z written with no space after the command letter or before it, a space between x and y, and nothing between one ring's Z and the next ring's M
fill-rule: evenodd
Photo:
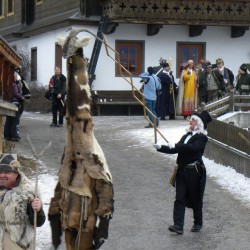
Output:
M66 74L57 45L72 26L97 34L107 17L104 37L120 53L122 65L140 86L138 74L159 59L172 60L178 79L188 59L215 63L223 58L236 75L250 62L250 1L132 1L132 0L0 0L0 33L31 62L30 82L47 85L55 65ZM89 36L80 33L78 36ZM84 48L91 58L95 38ZM119 68L102 46L95 68L93 90L129 90Z

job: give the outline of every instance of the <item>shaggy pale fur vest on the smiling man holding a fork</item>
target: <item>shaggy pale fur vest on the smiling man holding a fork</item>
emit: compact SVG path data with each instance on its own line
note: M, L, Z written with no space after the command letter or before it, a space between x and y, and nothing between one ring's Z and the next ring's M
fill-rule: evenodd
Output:
M20 175L20 185L3 194L4 198L0 204L2 220L0 223L0 250L3 249L5 228L13 242L24 249L33 249L34 227L29 223L26 211L28 202L34 198L34 186L23 173Z

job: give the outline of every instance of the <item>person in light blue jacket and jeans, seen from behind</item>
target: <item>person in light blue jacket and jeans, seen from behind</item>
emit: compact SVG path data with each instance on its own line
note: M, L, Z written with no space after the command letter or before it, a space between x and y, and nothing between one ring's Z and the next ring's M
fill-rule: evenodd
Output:
M153 73L153 68L148 67L148 71L140 74L143 81L143 94L145 98L146 107L157 117L155 111L157 91L161 89L161 83L158 77ZM148 119L154 124L154 117L152 114L147 112ZM159 125L159 120L156 119L156 126ZM152 128L153 126L149 123L145 128Z

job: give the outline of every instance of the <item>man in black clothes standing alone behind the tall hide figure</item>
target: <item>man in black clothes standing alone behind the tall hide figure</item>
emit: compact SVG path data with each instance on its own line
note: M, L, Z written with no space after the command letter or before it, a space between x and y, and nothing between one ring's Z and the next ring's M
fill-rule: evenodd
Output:
M52 123L51 127L63 126L63 107L66 94L66 77L61 73L61 69L55 67L55 75L50 78L49 88L52 89ZM59 112L59 123L57 122L57 112Z

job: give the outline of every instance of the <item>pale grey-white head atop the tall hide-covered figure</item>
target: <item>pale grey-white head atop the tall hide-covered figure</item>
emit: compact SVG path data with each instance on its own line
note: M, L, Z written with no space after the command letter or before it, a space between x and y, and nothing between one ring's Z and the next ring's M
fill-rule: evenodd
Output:
M90 37L78 38L77 34L86 31L85 29L71 28L68 37L58 37L58 44L62 46L62 56L67 59L76 54L79 48L86 47Z

